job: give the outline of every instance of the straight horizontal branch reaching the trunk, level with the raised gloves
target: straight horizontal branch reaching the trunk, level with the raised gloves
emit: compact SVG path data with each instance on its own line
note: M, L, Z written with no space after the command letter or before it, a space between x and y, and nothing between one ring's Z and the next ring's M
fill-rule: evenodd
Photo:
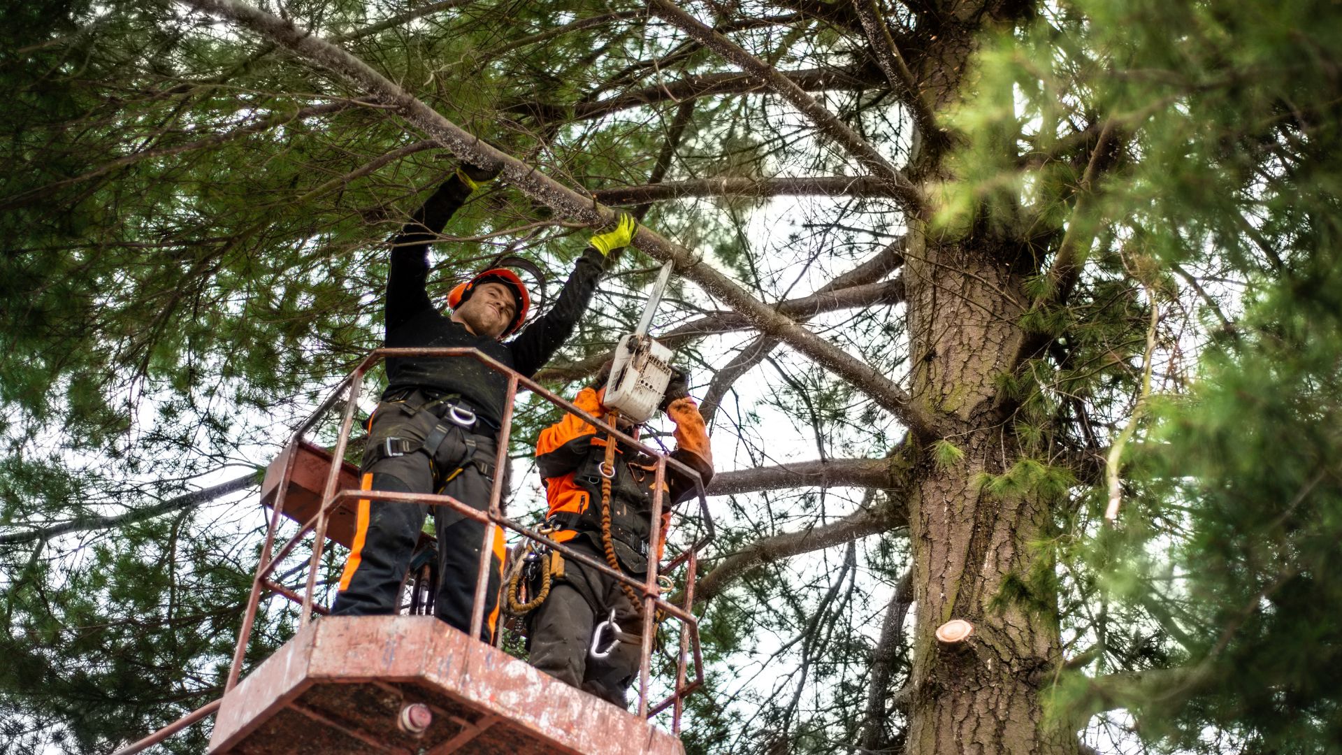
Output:
M648 204L699 196L888 196L890 184L871 176L811 176L774 179L695 179L592 192L605 204Z

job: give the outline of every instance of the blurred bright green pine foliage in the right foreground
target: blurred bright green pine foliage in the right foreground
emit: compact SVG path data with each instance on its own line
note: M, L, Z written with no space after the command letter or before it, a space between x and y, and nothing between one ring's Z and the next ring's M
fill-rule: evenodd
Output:
M1076 498L1057 556L1078 670L1053 708L1074 727L1126 708L1134 728L1119 738L1182 751L1342 742L1339 40L1342 17L1323 3L1067 4L980 56L978 87L1011 87L1015 105L969 99L957 114L970 180L943 222L986 200L1000 218L1062 212L1067 234L1090 239L1084 302L1023 320L1055 340L1051 359L998 378L1027 447L1056 442L1040 419L1084 406L1079 435L1099 476L1104 418L1121 426L1134 410L1150 301L1164 313L1159 410L1125 457L1117 525L1098 517L1096 477L1078 488L1025 458L984 480L994 496ZM1099 114L1090 132L1064 126L1078 113ZM1104 129L1130 146L1100 156L1098 197L1079 214L1066 210L1086 163L1021 165L1001 149L1025 134L1047 156ZM1031 293L1051 289L1040 278ZM1001 598L1028 601L1029 584L1013 575Z

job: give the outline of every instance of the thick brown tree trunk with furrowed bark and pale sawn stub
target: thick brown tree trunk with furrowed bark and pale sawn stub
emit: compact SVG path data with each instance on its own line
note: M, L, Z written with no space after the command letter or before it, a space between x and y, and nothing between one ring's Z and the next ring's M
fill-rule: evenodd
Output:
M1008 575L1024 578L1040 558L1031 543L1047 533L1047 505L980 490L981 474L1001 474L1017 455L994 378L1011 368L1027 297L992 243L915 246L905 263L914 398L945 418L964 457L938 465L919 454L910 497L918 610L909 751L1075 752L1075 738L1043 721L1040 689L1060 656L1056 611L1000 598ZM950 619L974 633L939 642L937 627Z

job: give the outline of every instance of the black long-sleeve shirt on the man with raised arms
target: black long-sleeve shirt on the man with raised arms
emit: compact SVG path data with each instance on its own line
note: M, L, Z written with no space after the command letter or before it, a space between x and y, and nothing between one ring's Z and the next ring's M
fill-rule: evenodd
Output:
M424 289L428 245L470 193L460 179L448 179L393 239L392 267L386 277L386 345L474 347L530 378L573 335L601 277L603 258L593 249L584 251L550 312L533 320L511 341L475 336L466 325L442 314ZM411 387L460 394L480 416L494 425L502 422L507 378L476 359L388 359L386 376L388 394Z

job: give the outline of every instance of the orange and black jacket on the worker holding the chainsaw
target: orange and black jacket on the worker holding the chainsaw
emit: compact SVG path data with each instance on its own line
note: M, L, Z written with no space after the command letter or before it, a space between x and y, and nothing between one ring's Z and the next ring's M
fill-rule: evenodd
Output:
M593 416L604 416L607 412L605 406L601 403L604 396L605 388L600 391L582 388L577 398L573 399L573 403ZM671 457L698 472L703 484L707 485L709 480L713 478L713 451L709 447L709 431L705 427L703 415L699 414L699 406L688 396L676 399L667 407L667 415L675 422L674 437L676 447L671 453ZM565 414L564 419L542 430L535 443L535 462L541 470L541 478L545 481L546 500L549 502L546 519L561 515L558 519L568 521L564 529L552 535L556 541L564 543L578 535L577 529L573 528L573 520L589 512L589 506L593 506L590 509L593 513L600 510L600 498L593 500L593 494L600 496L600 493L593 490L593 482L586 481L584 484L584 481L574 480L574 476L581 469L590 468L593 463L604 459L605 438L597 438L596 435L596 426L576 414ZM651 501L656 465L647 457L637 458L641 454L635 449L628 450L632 453L625 453L624 447L616 446L615 463L617 468L625 466L632 473L632 477L628 477L628 480L636 480L640 489L643 486L647 488L640 497L644 498L644 505L650 506L651 504L647 501ZM624 478L624 473L621 472L616 480L620 481ZM656 545L658 560L660 560L662 549L666 545L667 527L671 521L671 506L695 493L692 478L676 474L670 465L667 466L666 482L667 486L663 488L662 537ZM612 494L612 498L621 498L621 501L612 500L612 509L616 515L612 519L616 529L620 529L621 525L621 517L619 516L621 510L636 517L639 515L636 509L641 508L636 505L639 501L624 500L631 496L627 493L621 494L620 489L616 485L616 492ZM635 510L628 510L628 505L617 506L617 502L633 505ZM644 520L651 519L650 510L641 512ZM644 532L648 525L647 521L641 523L641 527L637 523L629 521L623 524L633 524L633 528L640 532Z

